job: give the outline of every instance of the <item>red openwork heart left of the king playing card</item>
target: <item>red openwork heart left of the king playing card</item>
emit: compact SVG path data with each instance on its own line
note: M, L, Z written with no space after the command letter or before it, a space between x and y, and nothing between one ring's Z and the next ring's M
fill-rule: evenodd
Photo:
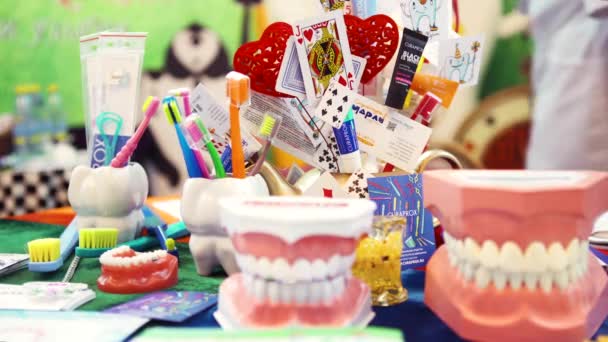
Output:
M262 37L243 44L234 54L234 70L249 76L251 89L276 97L291 97L274 90L287 40L293 34L291 25L284 22L271 24Z

